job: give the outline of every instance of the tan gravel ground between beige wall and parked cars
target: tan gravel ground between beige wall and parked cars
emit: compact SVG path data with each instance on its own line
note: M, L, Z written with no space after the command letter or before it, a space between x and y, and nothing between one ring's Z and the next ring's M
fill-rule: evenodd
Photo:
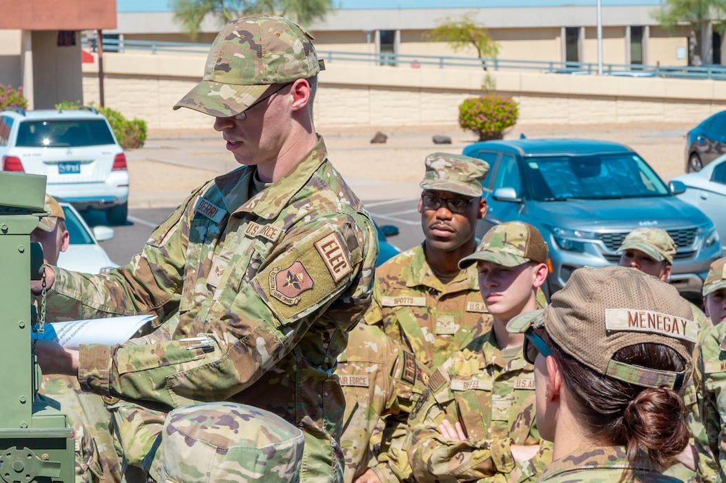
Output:
M573 137L602 139L621 142L640 153L645 161L656 170L664 181L682 174L685 169L684 148L685 133L692 126L684 123L629 123L629 124L598 124L598 125L518 125L514 126L505 139L516 139L521 134L526 137ZM343 176L363 179L376 179L393 182L417 183L423 176L423 159L429 153L444 151L461 153L462 147L476 141L473 134L468 134L457 126L417 126L391 129L380 129L388 136L385 144L371 144L375 128L322 128L319 132L325 137L330 159ZM435 145L433 134L444 134L451 137L451 145ZM145 148L134 150L139 161L129 163L131 175L131 195L134 192L154 192L163 190L188 192L206 179L217 174L209 169L195 169L179 166L174 163L175 139L189 137L219 139L219 143L211 142L213 152L208 155L217 157L232 155L224 152L221 135L211 128L205 132L152 131L147 145L163 147L168 162L150 161L144 158ZM181 147L179 147L181 149ZM158 150L154 152L157 154ZM150 156L152 157L152 156ZM158 156L155 156L158 158ZM203 155L200 165L204 164ZM396 198L392 193L391 198ZM181 201L181 199L179 200Z

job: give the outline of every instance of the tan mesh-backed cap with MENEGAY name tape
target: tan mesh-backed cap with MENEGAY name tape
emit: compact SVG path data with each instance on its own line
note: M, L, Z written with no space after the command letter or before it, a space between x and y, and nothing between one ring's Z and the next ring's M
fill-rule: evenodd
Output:
M637 386L680 389L693 370L698 324L676 288L627 267L580 268L547 308L507 323L512 333L542 328L560 349L595 372ZM640 343L669 346L685 361L674 372L613 360Z

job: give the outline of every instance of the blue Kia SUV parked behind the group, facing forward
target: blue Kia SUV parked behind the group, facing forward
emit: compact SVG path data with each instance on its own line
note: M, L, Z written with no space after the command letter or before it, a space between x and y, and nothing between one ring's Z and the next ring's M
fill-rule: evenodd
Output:
M666 185L635 151L585 139L477 142L465 155L491 167L484 180L486 217L494 224L533 224L550 247L548 295L563 288L574 269L617 264L616 253L637 227L666 230L678 246L669 282L688 299L701 299L709 264L721 255L714 224L676 198L682 182Z

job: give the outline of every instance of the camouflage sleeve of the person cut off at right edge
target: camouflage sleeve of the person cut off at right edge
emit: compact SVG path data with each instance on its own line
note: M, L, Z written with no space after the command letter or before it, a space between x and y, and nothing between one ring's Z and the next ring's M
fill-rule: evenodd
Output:
M693 434L698 452L698 476L715 481L726 475L726 353L721 349L726 325L706 330L696 361L696 398L702 429Z

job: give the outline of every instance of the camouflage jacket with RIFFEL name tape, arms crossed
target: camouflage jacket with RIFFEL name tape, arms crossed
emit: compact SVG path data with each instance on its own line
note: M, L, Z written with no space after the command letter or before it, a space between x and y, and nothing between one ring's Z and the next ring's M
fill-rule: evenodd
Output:
M494 330L476 338L431 374L409 418L409 465L417 482L522 482L552 460L552 445L534 421L534 366L521 354L506 362ZM468 439L446 439L444 419L461 423ZM540 445L532 460L515 463L510 445Z

